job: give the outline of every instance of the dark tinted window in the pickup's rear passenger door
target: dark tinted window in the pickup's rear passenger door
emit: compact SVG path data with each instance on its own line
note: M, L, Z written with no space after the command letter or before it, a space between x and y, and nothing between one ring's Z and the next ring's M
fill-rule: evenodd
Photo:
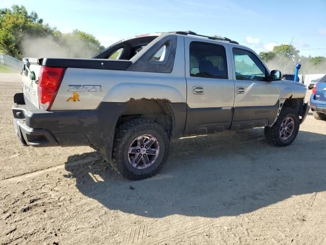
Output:
M228 79L224 46L206 42L192 42L189 48L190 76Z

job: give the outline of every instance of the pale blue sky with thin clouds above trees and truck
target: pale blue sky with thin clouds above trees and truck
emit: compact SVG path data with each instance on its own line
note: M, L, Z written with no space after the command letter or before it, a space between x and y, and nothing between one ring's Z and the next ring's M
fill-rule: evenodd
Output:
M191 30L228 37L257 53L291 43L300 55L326 56L326 0L0 0L0 8L13 4L61 32L88 32L104 46L139 34Z

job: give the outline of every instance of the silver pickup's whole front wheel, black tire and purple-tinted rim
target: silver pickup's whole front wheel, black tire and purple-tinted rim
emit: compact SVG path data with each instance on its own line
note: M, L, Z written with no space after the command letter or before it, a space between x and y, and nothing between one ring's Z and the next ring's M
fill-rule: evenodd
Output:
M298 113L289 107L283 107L282 111L272 127L265 127L265 136L270 144L275 146L287 146L291 144L300 128Z

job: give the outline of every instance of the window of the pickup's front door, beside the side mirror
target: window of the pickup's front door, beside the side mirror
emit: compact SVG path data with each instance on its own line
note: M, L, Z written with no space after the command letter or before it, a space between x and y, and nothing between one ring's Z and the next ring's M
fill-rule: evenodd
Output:
M237 80L265 80L266 69L254 53L241 48L233 48L233 56Z

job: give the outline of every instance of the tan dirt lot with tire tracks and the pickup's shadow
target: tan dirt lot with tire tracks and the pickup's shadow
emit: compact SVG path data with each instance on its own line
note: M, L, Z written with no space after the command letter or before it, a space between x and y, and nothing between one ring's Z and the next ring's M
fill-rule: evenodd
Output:
M286 148L261 128L179 139L132 182L88 147L22 146L19 91L0 74L1 244L326 244L326 122L311 113Z

